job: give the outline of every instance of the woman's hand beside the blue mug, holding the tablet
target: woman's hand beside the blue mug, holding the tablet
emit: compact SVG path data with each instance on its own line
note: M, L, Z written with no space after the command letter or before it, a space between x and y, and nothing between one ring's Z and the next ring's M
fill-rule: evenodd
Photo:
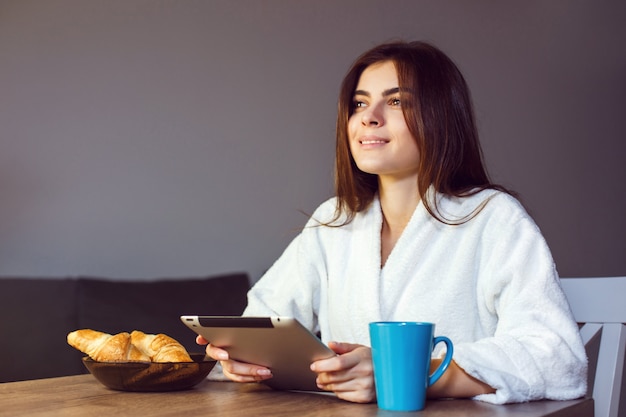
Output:
M317 374L317 386L333 391L343 400L357 403L374 401L372 350L351 343L330 342L328 346L337 356L311 364L311 370Z

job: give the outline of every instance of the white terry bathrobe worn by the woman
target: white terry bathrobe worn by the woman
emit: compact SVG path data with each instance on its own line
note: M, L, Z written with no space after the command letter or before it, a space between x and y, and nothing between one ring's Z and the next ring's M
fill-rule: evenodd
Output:
M496 389L476 399L581 397L585 350L530 216L492 190L440 196L439 208L446 218L460 218L488 197L476 217L458 226L438 222L420 203L382 269L379 200L346 226L320 226L334 214L330 199L250 290L244 314L293 316L324 342L367 346L369 322L432 322L436 336L452 340L455 362Z

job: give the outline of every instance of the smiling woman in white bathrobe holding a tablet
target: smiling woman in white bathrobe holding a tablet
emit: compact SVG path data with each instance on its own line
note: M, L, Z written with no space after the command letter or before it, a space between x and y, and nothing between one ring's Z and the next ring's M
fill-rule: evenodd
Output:
M338 354L311 365L320 388L375 400L368 323L412 320L436 323L455 346L431 398L585 394L585 350L550 251L489 181L469 90L440 50L390 43L353 64L339 96L336 194L251 289L244 313L319 331ZM271 378L217 347L207 353L235 381Z

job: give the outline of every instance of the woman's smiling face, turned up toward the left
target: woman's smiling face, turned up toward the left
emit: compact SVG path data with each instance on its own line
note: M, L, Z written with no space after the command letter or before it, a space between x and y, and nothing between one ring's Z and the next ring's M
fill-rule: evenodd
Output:
M401 92L393 62L367 67L354 92L348 120L350 151L361 171L396 179L416 177L419 150L402 113Z

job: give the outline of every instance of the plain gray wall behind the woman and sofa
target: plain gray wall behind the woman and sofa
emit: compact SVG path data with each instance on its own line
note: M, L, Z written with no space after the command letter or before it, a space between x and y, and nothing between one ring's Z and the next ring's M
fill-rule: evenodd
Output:
M0 0L0 275L258 278L332 194L336 94L449 53L564 276L626 274L626 2Z

